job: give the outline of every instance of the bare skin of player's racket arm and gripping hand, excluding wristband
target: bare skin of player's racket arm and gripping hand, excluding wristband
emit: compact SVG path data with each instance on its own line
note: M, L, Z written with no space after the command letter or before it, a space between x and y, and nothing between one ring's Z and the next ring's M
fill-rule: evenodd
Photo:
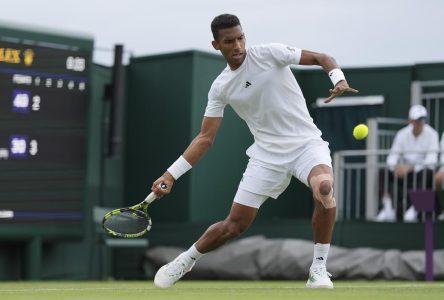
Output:
M208 151L216 139L217 131L222 123L222 117L204 117L199 134L191 141L182 157L191 165L195 165ZM171 192L175 178L166 171L156 181L153 182L151 190L158 197L162 197ZM164 183L167 188L161 189L159 186Z

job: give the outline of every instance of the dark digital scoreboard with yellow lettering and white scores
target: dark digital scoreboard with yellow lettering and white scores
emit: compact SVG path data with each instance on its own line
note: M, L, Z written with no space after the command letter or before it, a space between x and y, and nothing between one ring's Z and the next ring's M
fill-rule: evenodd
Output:
M82 221L91 51L0 40L0 223Z

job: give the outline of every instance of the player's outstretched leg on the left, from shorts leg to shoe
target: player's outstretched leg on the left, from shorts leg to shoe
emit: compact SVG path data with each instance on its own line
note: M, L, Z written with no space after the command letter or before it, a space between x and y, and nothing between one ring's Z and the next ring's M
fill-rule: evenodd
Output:
M257 211L268 197L277 198L290 180L291 175L285 168L250 159L228 216L211 225L187 251L161 267L154 278L155 285L161 288L172 286L205 253L242 234L253 223Z

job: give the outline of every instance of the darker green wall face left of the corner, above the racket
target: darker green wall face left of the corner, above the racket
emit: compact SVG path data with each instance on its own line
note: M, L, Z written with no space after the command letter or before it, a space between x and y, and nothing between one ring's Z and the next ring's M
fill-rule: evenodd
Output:
M125 199L141 201L191 139L191 53L131 60L127 77ZM155 220L189 220L189 177L152 206Z

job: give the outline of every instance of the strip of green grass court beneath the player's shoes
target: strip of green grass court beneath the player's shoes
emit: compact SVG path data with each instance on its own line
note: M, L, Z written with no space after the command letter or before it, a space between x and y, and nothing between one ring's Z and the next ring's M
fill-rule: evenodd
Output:
M444 282L335 281L334 290L308 290L302 281L182 281L161 290L152 281L3 282L0 299L444 299Z

